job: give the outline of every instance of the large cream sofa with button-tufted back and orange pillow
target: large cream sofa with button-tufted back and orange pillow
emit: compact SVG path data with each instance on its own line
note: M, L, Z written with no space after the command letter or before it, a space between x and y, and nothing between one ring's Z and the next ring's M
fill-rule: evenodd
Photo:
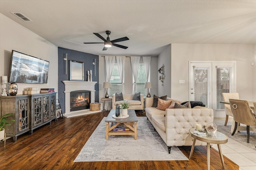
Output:
M167 98L167 100L178 101L171 98ZM168 146L169 153L172 146L192 145L190 128L196 128L196 124L206 125L213 122L213 109L207 107L196 106L192 109L166 109L163 111L151 107L152 104L153 98L146 98L146 117ZM196 145L206 145L206 143L197 140Z

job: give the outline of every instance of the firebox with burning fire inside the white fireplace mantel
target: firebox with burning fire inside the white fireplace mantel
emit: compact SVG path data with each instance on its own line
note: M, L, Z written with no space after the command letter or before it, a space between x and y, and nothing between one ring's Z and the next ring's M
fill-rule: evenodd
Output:
M90 109L90 91L70 92L70 111Z

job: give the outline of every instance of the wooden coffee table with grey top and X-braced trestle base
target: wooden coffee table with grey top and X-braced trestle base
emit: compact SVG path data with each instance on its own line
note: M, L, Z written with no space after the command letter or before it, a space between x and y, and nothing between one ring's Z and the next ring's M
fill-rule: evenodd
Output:
M136 116L134 109L128 109L129 117L124 119L116 119L116 118L113 118L112 115L116 115L116 109L112 109L105 120L106 140L108 140L108 135L134 135L134 139L136 140L138 117ZM109 123L111 123L110 127L109 127ZM121 123L123 123L128 128L130 128L130 131L112 131L115 127L117 127Z

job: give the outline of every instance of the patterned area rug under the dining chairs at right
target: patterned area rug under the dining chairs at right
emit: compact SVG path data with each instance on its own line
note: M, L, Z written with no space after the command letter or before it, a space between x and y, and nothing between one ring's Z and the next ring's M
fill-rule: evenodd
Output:
M218 131L227 135L230 139L233 139L242 145L249 147L250 149L256 150L256 133L250 131L250 143L247 143L247 132L246 131L240 131L238 133L235 133L234 136L231 135L230 132L231 125L218 125Z

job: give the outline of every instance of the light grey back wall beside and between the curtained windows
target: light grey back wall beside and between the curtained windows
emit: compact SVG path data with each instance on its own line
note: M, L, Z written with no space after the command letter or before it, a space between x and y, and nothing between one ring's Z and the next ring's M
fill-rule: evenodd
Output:
M142 63L142 57L140 59L140 62ZM153 97L153 94L157 94L157 88L158 84L157 81L155 80L157 75L157 63L158 63L158 58L157 57L151 57L150 61L150 76L151 82L152 82L152 89L150 89L150 94ZM106 89L103 89L103 82L106 82L106 67L105 67L105 60L104 57L99 57L99 96L100 100L103 98L106 94ZM126 94L132 94L132 68L131 68L131 60L130 57L126 57L125 59L125 70L124 70L124 92Z

